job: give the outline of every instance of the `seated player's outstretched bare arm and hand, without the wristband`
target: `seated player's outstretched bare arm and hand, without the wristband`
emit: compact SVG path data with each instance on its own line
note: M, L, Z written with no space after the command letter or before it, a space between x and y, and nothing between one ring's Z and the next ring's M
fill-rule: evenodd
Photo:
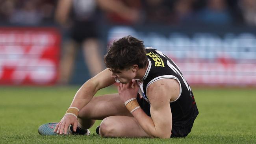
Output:
M113 83L115 83L115 79L111 78L111 71L108 69L103 70L80 87L76 92L70 107L77 107L81 110L91 101L98 90L108 87ZM61 135L64 130L64 134L66 134L70 124L73 125L73 130L76 131L76 127L78 126L77 118L73 115L64 115L59 124L55 127L54 132Z

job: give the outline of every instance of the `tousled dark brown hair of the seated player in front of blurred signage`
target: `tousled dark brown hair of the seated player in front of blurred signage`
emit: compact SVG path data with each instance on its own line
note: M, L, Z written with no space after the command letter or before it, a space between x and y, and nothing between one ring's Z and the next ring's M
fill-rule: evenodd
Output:
M145 68L148 60L143 41L130 35L114 41L104 57L104 62L112 71L128 69L133 65Z

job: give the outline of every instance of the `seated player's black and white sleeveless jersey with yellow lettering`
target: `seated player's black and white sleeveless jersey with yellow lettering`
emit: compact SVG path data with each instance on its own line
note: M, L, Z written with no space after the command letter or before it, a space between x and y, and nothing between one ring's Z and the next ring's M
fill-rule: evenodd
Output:
M173 124L189 125L195 120L198 109L192 90L182 72L169 57L159 50L147 47L146 52L148 68L144 77L138 82L139 94L150 103L147 98L147 88L150 84L160 79L176 79L180 84L180 94L176 100L170 102Z

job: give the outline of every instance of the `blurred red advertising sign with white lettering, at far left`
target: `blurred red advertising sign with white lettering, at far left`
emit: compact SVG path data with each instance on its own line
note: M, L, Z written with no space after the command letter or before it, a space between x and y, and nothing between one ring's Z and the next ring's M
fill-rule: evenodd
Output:
M56 83L59 54L55 28L0 28L0 84Z

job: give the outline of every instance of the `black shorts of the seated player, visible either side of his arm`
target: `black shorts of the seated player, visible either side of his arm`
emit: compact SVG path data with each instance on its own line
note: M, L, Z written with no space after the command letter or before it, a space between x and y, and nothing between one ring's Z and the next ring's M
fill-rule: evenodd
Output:
M137 101L138 101L139 106L141 107L141 109L143 109L143 111L148 116L151 117L150 104L146 100L141 98L139 95L137 96ZM192 126L193 126L193 123L194 122L191 122L191 124L189 124L187 126L184 126L182 124L173 123L171 137L186 137L190 133L190 131L192 129Z

